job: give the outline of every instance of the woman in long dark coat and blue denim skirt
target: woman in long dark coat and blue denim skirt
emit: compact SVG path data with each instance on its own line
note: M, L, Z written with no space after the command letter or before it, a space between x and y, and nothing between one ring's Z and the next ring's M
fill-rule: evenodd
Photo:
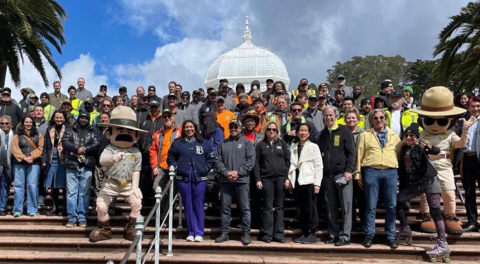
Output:
M41 154L41 165L45 169L45 188L51 188L52 208L46 216L61 216L58 210L58 195L60 189L63 193L63 214L66 213L66 170L61 163L63 159L63 147L61 137L66 129L66 114L63 110L56 110L50 119L45 133L43 152ZM41 188L41 186L40 186Z

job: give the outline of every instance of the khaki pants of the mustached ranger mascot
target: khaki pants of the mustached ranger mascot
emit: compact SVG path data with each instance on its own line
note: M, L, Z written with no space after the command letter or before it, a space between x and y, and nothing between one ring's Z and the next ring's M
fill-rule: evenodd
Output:
M104 178L102 188L100 192L98 192L98 197L96 198L98 221L104 222L110 218L108 215L108 205L113 201L113 198L117 196L126 197L126 201L131 207L129 216L130 218L136 218L138 215L140 215L141 199L138 199L133 194L131 182L125 187L120 187L119 185Z

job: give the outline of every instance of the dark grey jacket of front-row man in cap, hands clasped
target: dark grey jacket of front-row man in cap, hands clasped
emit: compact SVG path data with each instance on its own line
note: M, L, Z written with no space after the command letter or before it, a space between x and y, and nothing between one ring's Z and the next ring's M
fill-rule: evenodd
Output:
M226 173L233 170L238 172L235 182L249 183L250 171L255 165L255 147L244 136L229 136L218 145L214 164L220 174L220 182L230 182Z

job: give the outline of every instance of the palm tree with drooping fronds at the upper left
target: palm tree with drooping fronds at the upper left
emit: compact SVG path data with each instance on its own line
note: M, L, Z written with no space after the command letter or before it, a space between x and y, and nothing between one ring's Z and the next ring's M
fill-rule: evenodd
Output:
M7 68L15 86L20 85L24 56L40 73L45 86L48 79L42 56L61 78L48 44L61 54L65 19L65 10L55 0L0 0L0 87L5 85Z

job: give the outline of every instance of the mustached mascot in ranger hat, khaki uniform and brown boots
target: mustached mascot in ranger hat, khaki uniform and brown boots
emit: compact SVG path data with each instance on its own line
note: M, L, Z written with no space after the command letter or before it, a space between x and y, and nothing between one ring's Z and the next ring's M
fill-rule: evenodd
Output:
M110 123L98 125L107 127L105 136L110 139L110 144L100 155L100 165L105 167L105 175L96 198L98 228L92 230L88 238L92 242L111 238L108 205L114 197L123 196L131 207L124 238L133 240L142 198L138 188L141 153L138 148L133 147L133 143L138 140L140 133L147 131L137 128L135 112L127 106L115 107L111 111Z

